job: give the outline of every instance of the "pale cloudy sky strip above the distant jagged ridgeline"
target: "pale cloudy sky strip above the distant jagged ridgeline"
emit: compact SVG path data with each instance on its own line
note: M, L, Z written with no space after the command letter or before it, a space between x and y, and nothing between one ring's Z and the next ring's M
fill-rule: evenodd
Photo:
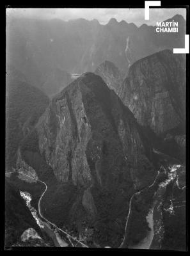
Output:
M136 26L141 26L144 23L155 26L157 21L169 19L176 14L181 14L186 19L185 8L151 8L150 20L145 20L143 8L8 8L6 14L7 17L56 18L66 21L79 18L97 19L100 24L107 24L111 18L115 18L118 22L125 20L128 23L133 22Z

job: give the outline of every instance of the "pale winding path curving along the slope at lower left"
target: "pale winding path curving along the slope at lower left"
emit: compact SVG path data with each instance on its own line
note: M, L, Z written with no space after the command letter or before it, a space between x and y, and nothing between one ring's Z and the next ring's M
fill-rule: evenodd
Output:
M29 177L29 178L31 178L31 179L34 179L34 180L37 180L38 182L43 183L43 184L45 185L45 190L44 190L44 192L42 193L42 195L40 196L40 199L39 199L39 201L38 201L38 212L39 212L39 214L40 214L40 217L43 218L45 221L47 221L47 223L50 223L53 227L57 228L59 231L63 232L63 233L67 236L67 238L68 238L69 241L70 241L70 238L71 238L71 239L73 239L74 241L76 241L77 243L81 244L83 247L87 247L87 248L88 248L88 246L87 246L86 244L84 244L84 243L82 243L81 241L75 239L73 236L70 236L70 234L68 234L67 232L65 232L65 231L62 230L61 228L57 227L54 223L52 223L51 221L47 220L47 219L42 215L41 210L40 210L40 202L41 202L42 197L44 196L45 192L47 191L47 184L45 184L44 181L38 180L38 179L36 179L36 178L34 178L34 177L31 177L31 176L29 176L29 175L27 175L27 174L25 174L25 173L22 173L22 172L17 172L17 171L15 171L15 172L6 172L5 175L8 174L8 173L21 173L22 175L25 175L25 176L27 176L27 177ZM72 241L70 241L70 243L72 244ZM72 244L72 246L74 247L74 244Z

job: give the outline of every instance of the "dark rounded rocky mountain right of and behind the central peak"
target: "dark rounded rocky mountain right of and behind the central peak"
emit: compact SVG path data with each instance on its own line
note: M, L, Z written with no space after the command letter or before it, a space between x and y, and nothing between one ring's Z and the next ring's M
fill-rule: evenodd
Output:
M170 50L136 61L118 93L138 123L171 146L184 147L186 119L186 59ZM154 140L153 140L154 141ZM176 142L177 141L177 142ZM181 150L181 148L180 148ZM170 150L169 150L170 152ZM177 152L178 154L178 152Z

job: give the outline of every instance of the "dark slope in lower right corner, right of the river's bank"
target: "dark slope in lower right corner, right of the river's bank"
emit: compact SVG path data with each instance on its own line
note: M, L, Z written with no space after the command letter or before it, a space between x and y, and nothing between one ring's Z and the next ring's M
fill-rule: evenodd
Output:
M162 205L164 236L161 248L164 250L186 251L186 168L178 170L177 182L168 187ZM173 185L173 186L172 186Z

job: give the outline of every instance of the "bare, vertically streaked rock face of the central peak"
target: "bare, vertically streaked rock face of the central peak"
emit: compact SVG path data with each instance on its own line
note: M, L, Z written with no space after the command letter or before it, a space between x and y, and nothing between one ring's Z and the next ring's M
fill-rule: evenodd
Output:
M138 129L131 111L93 73L54 97L37 125L40 153L58 179L86 187L105 186L128 159L134 165L145 152L150 156Z

